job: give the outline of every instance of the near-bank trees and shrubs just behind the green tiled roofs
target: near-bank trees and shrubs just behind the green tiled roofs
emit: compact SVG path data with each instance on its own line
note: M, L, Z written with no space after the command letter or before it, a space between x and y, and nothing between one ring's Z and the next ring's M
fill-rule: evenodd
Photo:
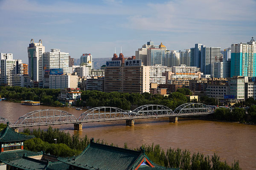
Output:
M36 137L25 141L24 149L33 152L45 151L58 157L76 156L90 143L87 136L79 137L77 134L70 135L68 132L52 129L52 127L49 127L46 131L41 129L30 131L27 128L23 130L23 134L34 135ZM55 144L54 139L57 139L57 144ZM100 139L95 142L108 144L105 140ZM110 145L113 146L114 144L112 143ZM181 168L183 170L241 170L238 161L234 160L234 163L229 166L226 161L221 162L220 157L215 153L210 157L208 155L204 156L199 152L191 154L190 151L182 151L179 148L169 148L165 152L159 144L143 144L141 147L153 162L165 167ZM128 148L127 143L124 143L124 148L140 151L140 147Z

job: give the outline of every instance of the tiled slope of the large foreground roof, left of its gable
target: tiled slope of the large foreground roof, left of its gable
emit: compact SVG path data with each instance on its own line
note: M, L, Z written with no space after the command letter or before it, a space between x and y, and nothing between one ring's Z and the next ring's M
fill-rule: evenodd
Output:
M142 152L91 142L80 155L59 160L88 170L121 170L131 167L141 154Z

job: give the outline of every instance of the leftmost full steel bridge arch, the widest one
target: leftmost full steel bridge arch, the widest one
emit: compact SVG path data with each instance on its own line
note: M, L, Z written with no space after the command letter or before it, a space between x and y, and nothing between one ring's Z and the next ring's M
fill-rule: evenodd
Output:
M21 116L14 125L47 125L56 122L75 122L74 115L63 111L53 109L35 110Z

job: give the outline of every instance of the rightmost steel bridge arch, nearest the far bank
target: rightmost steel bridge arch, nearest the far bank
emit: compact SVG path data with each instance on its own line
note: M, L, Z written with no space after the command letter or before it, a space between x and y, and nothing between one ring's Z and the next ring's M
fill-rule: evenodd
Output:
M174 110L174 114L209 113L214 110L203 103L185 103Z

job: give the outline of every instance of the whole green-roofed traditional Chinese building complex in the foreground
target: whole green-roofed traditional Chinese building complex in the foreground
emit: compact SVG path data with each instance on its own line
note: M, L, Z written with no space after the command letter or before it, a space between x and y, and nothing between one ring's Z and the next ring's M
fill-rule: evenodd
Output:
M0 170L174 170L154 164L144 150L133 151L115 146L90 144L78 156L60 158L44 152L23 149L23 142L34 136L7 127L0 132Z

